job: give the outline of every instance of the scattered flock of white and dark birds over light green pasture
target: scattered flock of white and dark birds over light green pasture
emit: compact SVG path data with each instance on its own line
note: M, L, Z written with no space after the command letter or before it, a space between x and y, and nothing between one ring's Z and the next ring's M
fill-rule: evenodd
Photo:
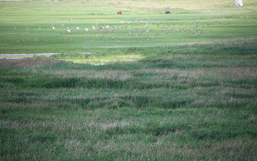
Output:
M71 19L72 20L72 19ZM211 26L230 26L231 22L200 22L200 21L159 21L158 19L153 21L141 21L138 19L132 19L131 21L116 21L114 24L102 24L101 21L97 21L91 25L91 28L84 28L84 32L80 32L80 26L69 28L64 24L52 24L51 28L53 32L58 33L56 37L61 37L61 40L69 41L73 38L84 38L84 40L91 43L142 43L145 41L152 41L155 38L163 39L164 41L171 39L172 41L186 41L188 38L199 38L206 32L211 31ZM60 26L60 27L58 27ZM66 32L65 29L66 28ZM15 29L18 28L15 27ZM44 31L45 27L39 30ZM29 31L29 27L26 27L26 33ZM49 31L49 30L48 30ZM221 33L222 34L222 33ZM67 38L68 37L68 38ZM36 38L36 41L41 41L45 38ZM112 41L113 40L113 41ZM18 38L16 38L19 43ZM47 40L46 40L47 41Z

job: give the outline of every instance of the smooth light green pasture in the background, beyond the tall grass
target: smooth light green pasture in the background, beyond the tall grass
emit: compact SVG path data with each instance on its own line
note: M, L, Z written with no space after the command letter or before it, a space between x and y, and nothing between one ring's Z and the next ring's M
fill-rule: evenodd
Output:
M0 53L84 53L91 48L176 46L257 35L254 1L244 7L193 1L198 5L195 9L186 8L191 1L99 3L1 1Z

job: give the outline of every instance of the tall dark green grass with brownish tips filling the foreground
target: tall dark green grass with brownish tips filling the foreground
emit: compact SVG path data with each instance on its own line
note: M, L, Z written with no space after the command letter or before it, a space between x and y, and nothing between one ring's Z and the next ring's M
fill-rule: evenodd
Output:
M256 160L255 45L187 48L115 49L152 57L106 66L1 60L2 159Z

